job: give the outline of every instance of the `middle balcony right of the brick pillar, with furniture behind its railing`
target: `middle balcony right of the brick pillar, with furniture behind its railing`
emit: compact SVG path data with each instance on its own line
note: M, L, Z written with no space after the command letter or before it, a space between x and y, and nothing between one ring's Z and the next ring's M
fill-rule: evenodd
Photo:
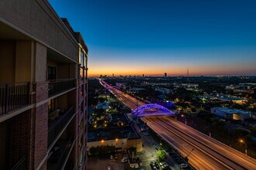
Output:
M64 112L64 114L61 114L61 111L59 110L55 110L54 112L50 113L48 121L48 147L71 120L73 115L74 107L69 108L66 112Z

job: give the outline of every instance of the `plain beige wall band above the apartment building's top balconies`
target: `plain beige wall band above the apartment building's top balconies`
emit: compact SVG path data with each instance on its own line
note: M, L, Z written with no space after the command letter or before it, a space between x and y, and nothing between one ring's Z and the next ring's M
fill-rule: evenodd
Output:
M2 0L0 21L79 62L78 43L47 0Z

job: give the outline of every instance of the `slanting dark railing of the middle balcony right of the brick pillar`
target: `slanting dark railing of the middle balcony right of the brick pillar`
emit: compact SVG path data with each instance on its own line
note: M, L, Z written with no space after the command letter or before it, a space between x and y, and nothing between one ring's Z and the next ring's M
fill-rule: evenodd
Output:
M60 120L56 122L51 128L48 130L48 147L54 141L58 134L60 134L61 130L65 127L68 121L70 121L71 117L74 115L74 107L71 107L67 112L61 117Z

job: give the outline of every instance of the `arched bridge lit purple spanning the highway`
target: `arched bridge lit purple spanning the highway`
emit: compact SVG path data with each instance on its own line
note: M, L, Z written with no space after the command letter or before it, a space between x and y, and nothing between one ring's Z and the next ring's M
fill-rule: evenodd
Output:
M175 116L175 113L159 104L144 104L132 113L134 117Z

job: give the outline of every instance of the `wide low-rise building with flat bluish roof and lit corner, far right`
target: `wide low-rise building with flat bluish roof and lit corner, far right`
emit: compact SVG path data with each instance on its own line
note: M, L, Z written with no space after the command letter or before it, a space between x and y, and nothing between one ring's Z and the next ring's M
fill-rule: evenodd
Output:
M237 110L237 109L228 108L228 107L213 107L211 108L211 113L218 117L223 117L223 118L237 120L237 121L238 120L244 121L244 119L251 117L250 111Z

